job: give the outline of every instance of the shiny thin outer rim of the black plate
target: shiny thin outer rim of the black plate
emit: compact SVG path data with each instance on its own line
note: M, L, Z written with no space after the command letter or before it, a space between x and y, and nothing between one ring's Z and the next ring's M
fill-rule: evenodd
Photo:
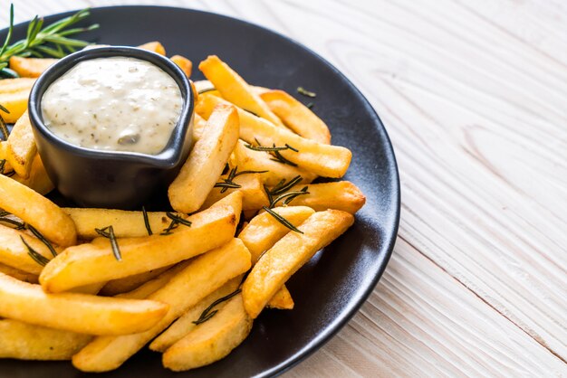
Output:
M303 345L303 347L301 349L299 349L297 352L293 353L289 358L284 360L282 363L276 364L276 365L272 366L271 368L264 370L262 373L256 374L255 376L264 378L264 377L274 377L274 376L278 376L280 374L283 374L283 373L289 371L290 369L292 369L297 364L302 363L308 357L310 357L312 354L314 354L315 352L320 350L323 345L327 344L332 339L332 337L334 335L337 335L339 333L339 331L341 331L341 329L351 321L352 317L354 317L360 311L360 307L362 307L364 305L364 303L366 303L366 301L370 297L370 294L374 291L374 289L378 285L384 271L388 267L389 260L391 258L392 253L393 253L393 250L395 248L395 244L396 244L396 241L398 240L398 235L399 235L399 222L400 222L400 218L401 218L401 185L400 185L400 179L399 179L398 160L397 160L396 154L394 152L394 146L392 145L391 138L389 137L388 131L386 130L386 126L382 122L382 119L380 118L376 109L374 109L374 107L370 103L369 99L367 99L366 96L364 96L362 91L356 85L354 85L354 83L344 73L342 73L342 71L340 71L338 68L336 68L330 61L328 61L327 59L322 57L322 55L319 54L318 52L314 52L311 48L307 47L303 43L300 43L300 42L296 41L295 39L293 39L292 37L284 35L283 33L274 31L273 29L270 29L270 28L265 27L263 25L255 24L255 23L252 23L250 21L243 20L241 18L237 18L237 17L234 17L234 16L230 16L230 15L226 15L226 14L218 14L218 13L215 13L215 12L204 11L204 10L189 8L189 7L181 7L181 6L174 6L174 5L105 5L105 6L89 7L89 9L91 11L111 11L112 9L117 9L117 8L120 8L120 9L134 9L134 8L136 8L136 9L141 9L141 8L157 9L157 8L159 8L159 9L168 9L168 10L171 10L171 11L176 11L176 10L181 11L181 12L189 11L189 12L196 13L196 14L207 14L208 16L216 16L216 17L225 18L225 19L227 19L231 22L246 24L249 27L259 28L259 29L263 30L265 33L275 34L277 37L282 38L283 40L286 40L289 43L292 43L295 47L298 47L298 48L300 48L300 49L302 49L306 52L311 53L315 58L317 58L317 60L321 61L322 64L326 65L327 68L331 69L334 74L338 75L341 78L341 80L344 80L349 85L349 87L351 87L351 90L354 90L360 96L360 99L362 99L364 101L365 105L370 110L372 115L378 119L378 123L374 123L373 126L374 126L374 128L377 128L377 127L379 128L379 133L380 133L381 137L384 138L384 140L383 140L385 142L384 145L387 146L387 148L385 148L385 153L386 153L387 156L389 156L389 159L390 159L390 161L388 163L389 163L389 168L391 169L391 172L393 174L393 175L391 175L390 178L391 178L391 180L393 181L393 184L394 184L393 188L392 188L393 189L392 190L393 195L392 195L392 201L391 202L395 204L393 232L391 232L391 233L388 232L389 242L388 242L387 246L385 247L386 253L384 255L384 264L382 264L380 266L380 268L378 269L378 271L376 272L374 277L371 279L370 285L368 285L368 287L360 295L360 298L358 298L358 300L355 301L355 303L352 305L352 307L346 313L340 314L338 317L336 317L333 320L333 322L330 326L326 326L319 335L316 335L316 337L314 337L308 344ZM53 14L43 14L42 16L44 18L52 17L52 16L65 17L65 16L68 16L68 15L74 14L74 13L80 11L81 9L82 8L79 8L79 9L74 8L70 11L64 11L64 12L53 13ZM14 28L21 27L24 24L29 23L30 21L31 20L26 20L26 21L23 21L21 23L14 24ZM0 34L6 33L7 30L8 30L8 27L0 29Z

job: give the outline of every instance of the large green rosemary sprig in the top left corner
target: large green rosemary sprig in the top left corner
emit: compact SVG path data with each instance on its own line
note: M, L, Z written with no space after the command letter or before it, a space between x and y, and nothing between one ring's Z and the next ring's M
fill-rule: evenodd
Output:
M14 31L14 4L10 5L10 26L5 42L0 50L0 71L4 71L13 56L41 58L45 55L62 58L68 53L87 46L88 42L69 38L76 33L88 32L99 27L91 24L87 27L70 28L90 15L89 9L82 9L76 14L65 17L53 24L43 27L43 18L35 16L28 24L27 33L23 40L10 44Z

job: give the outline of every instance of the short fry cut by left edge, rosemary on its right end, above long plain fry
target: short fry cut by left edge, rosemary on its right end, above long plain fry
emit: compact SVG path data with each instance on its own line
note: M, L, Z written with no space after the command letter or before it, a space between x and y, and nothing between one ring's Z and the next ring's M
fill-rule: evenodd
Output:
M39 275L43 266L32 259L22 239L44 259L53 259L53 254L42 241L27 232L0 225L0 262L27 273ZM53 248L58 253L62 251L62 248L58 246L53 246Z

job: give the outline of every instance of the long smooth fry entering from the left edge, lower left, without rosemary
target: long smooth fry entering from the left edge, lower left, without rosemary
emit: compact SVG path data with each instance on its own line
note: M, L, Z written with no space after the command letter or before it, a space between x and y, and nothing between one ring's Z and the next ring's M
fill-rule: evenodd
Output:
M167 304L153 300L46 294L39 285L0 274L0 317L37 326L90 335L123 335L155 326L167 312Z

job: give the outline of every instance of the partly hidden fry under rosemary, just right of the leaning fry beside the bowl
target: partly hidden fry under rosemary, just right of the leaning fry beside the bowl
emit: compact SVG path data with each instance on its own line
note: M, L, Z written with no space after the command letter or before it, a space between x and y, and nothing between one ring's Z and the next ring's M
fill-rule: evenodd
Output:
M226 175L220 176L219 182L222 182L226 178ZM213 188L208 194L205 203L201 209L207 209L209 206L216 202L219 202L227 195L233 194L235 192L242 193L242 209L243 210L258 210L262 206L267 206L270 204L268 201L268 196L264 191L264 183L262 181L261 174L245 174L237 175L233 180L235 184L239 184L238 189L228 189L225 193L222 192L222 188Z

